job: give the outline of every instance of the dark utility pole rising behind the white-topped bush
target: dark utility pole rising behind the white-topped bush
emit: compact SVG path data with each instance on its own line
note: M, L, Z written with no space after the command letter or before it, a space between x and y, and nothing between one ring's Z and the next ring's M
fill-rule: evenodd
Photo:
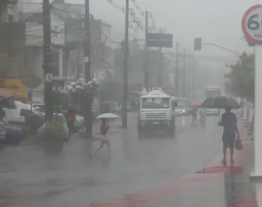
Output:
M85 0L85 83L91 80L91 55L90 55L90 12L89 0ZM85 133L92 137L92 97L88 94L85 97Z

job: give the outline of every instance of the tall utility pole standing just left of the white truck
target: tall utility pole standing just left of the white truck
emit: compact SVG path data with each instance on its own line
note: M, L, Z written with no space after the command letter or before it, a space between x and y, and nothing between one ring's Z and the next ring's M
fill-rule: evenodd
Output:
M125 0L125 46L123 57L123 103L122 128L128 128L128 29L129 29L129 0Z

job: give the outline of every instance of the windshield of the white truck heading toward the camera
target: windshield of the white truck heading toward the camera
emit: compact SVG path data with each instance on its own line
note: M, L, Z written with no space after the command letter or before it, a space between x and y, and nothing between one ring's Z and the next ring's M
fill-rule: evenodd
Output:
M170 98L143 98L141 108L170 108Z

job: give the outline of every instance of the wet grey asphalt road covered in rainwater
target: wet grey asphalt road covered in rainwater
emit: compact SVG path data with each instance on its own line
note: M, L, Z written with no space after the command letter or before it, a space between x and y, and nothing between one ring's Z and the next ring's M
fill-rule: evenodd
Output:
M128 130L111 123L112 157L107 148L90 157L90 141L79 135L61 152L35 146L12 146L0 151L1 207L81 207L126 193L158 186L200 170L221 149L217 117L205 126L192 126L190 117L177 118L174 137L154 132L138 137L136 118ZM94 126L98 131L98 124Z

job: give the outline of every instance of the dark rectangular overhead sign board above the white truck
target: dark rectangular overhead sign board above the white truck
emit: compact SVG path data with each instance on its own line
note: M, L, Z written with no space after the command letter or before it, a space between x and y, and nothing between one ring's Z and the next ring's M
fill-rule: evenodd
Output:
M172 48L173 34L146 33L145 44L147 47Z

